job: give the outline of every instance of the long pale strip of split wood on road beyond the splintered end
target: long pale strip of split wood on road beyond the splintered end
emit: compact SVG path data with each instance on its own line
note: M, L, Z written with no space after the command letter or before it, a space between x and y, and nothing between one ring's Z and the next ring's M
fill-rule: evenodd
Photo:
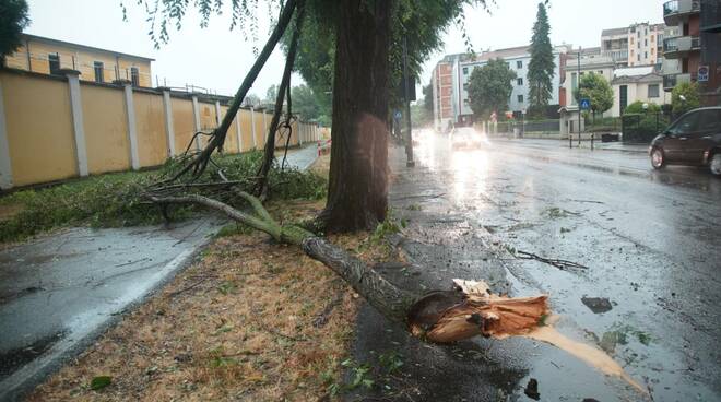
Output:
M539 327L537 329L522 336L554 345L571 354L576 358L583 360L588 365L595 367L607 376L615 376L624 379L626 382L638 389L643 394L648 394L643 387L641 387L628 374L626 374L624 368L620 367L618 363L616 363L603 351L591 345L568 339L553 327Z

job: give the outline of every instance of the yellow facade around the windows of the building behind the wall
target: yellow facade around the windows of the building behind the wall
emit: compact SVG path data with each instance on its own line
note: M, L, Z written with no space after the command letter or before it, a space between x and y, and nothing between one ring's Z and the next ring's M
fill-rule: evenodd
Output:
M140 86L153 86L151 63L149 60L133 59L109 51L93 51L81 47L39 40L29 40L29 67L27 66L27 48L25 45L8 57L8 67L49 74L50 64L48 54L56 52L60 56L60 67L80 71L81 80L95 81L94 62L101 61L104 64L103 79L106 83L111 83L117 79L130 80L130 68L137 67ZM119 76L116 75L116 67L119 67Z

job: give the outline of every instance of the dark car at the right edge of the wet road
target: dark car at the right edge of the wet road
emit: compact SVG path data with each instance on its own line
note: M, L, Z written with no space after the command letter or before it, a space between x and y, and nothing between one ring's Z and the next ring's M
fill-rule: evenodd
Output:
M679 117L651 142L654 169L666 165L708 166L721 175L721 107L702 107Z

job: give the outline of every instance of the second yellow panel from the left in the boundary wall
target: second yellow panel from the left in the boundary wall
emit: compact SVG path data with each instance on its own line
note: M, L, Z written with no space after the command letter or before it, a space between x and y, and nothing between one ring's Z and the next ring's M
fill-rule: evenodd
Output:
M130 168L128 117L122 88L81 85L83 127L91 174Z

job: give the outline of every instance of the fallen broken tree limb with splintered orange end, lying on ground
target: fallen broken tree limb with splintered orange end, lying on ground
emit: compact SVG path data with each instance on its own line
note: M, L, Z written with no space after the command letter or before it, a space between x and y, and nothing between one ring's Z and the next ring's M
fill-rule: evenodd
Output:
M232 220L296 245L305 253L339 274L386 318L406 326L415 336L449 343L476 335L505 338L529 332L548 314L545 295L509 298L490 294L483 282L457 281L457 291L437 291L419 296L386 280L378 271L322 237L294 225L277 224L259 199L237 190L255 214L241 212L200 194L146 197L161 204L194 203L220 211Z

